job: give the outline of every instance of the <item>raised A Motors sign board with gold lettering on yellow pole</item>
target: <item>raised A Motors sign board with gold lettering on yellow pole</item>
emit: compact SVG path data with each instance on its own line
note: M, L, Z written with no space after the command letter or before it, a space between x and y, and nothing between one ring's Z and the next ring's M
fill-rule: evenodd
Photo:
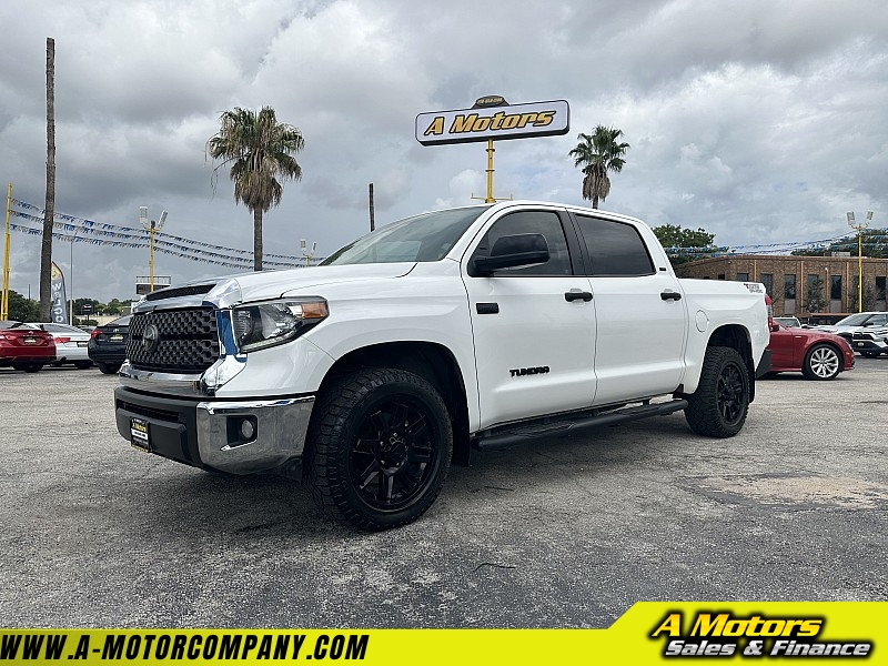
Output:
M553 137L566 134L569 129L571 109L565 100L498 107L475 104L473 109L416 117L416 141L423 145Z

